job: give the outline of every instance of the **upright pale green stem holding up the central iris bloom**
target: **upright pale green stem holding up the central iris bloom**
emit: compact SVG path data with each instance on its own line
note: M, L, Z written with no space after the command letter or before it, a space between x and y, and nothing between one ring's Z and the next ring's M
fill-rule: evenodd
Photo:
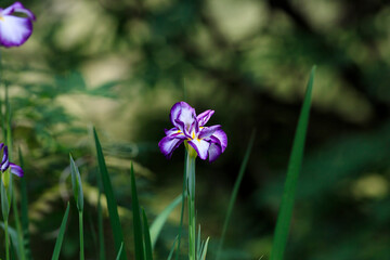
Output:
M192 147L188 147L192 148ZM196 221L195 221L195 156L187 153L186 157L186 184L188 202L188 259L195 260L196 253Z

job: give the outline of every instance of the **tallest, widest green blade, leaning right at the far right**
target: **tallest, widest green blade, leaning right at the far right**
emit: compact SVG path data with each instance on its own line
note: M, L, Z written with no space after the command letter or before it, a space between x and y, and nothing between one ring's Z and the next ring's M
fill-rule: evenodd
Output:
M303 100L303 105L298 120L292 150L288 162L287 178L282 197L281 209L277 216L275 234L273 238L271 260L282 260L287 244L287 236L292 216L294 200L297 188L298 176L302 165L306 133L308 130L311 92L313 88L315 66L313 66Z

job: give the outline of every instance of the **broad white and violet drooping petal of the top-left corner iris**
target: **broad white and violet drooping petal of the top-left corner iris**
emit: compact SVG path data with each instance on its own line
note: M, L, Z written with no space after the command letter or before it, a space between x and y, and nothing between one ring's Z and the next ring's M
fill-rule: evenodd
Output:
M22 46L32 34L30 18L12 15L0 16L0 44L4 47Z

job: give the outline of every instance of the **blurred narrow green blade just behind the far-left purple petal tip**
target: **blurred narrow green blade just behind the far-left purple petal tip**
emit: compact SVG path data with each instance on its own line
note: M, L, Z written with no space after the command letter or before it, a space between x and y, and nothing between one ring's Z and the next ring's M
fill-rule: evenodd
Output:
M22 151L18 150L20 164L22 169L24 167L24 160ZM31 259L31 249L30 249L30 239L29 239L29 231L28 231L28 196L27 196L27 181L26 174L21 178L21 221L22 221L22 230L23 230L23 242L24 242L24 251L27 260Z

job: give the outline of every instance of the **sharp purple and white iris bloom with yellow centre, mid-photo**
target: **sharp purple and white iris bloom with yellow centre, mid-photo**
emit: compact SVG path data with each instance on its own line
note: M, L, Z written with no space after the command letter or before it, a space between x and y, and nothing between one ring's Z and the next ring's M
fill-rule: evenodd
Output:
M200 159L208 157L210 162L214 161L225 151L227 136L220 125L205 127L213 113L208 109L196 116L195 109L187 103L176 103L170 112L170 121L174 127L165 130L167 136L158 143L161 153L169 159L184 142L195 150Z

